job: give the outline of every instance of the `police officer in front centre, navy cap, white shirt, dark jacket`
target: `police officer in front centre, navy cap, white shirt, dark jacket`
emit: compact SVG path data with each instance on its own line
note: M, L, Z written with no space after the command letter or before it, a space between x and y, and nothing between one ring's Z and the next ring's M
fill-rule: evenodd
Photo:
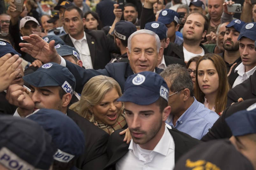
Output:
M124 95L117 101L124 102L132 141L124 143L118 131L111 134L105 169L173 169L178 158L199 143L165 124L171 111L168 96L167 83L156 73L144 71L128 77Z

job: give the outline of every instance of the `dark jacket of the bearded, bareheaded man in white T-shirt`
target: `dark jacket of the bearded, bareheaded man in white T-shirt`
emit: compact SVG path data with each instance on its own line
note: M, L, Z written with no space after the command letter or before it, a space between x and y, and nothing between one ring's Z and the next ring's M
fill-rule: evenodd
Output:
M204 54L210 53L203 44L200 43L200 47L203 48ZM183 43L178 45L174 42L170 42L168 47L164 49L164 55L180 58L184 60Z

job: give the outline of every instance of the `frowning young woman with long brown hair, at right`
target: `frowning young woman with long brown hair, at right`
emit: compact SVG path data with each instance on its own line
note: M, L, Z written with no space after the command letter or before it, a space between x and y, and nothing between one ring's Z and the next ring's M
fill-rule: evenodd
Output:
M226 107L229 84L226 64L216 54L206 54L196 65L195 97L216 113Z

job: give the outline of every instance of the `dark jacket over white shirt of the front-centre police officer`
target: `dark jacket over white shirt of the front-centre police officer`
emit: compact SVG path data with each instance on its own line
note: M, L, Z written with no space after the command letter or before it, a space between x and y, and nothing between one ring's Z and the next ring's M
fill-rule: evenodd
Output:
M118 129L110 135L108 141L108 156L109 162L104 169L116 169L116 163L120 160L127 152L130 144L126 144L123 141L124 135L119 135L124 129ZM174 151L174 162L185 154L189 149L200 143L196 138L191 137L177 129L168 129L174 139L175 151Z

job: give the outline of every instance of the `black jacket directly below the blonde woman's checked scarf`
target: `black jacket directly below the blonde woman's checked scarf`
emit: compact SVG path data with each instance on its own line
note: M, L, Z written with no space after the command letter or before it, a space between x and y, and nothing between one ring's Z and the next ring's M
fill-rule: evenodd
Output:
M85 150L76 161L76 167L83 170L102 170L108 162L107 142L109 134L73 110L68 109L67 115L75 121L85 137Z

